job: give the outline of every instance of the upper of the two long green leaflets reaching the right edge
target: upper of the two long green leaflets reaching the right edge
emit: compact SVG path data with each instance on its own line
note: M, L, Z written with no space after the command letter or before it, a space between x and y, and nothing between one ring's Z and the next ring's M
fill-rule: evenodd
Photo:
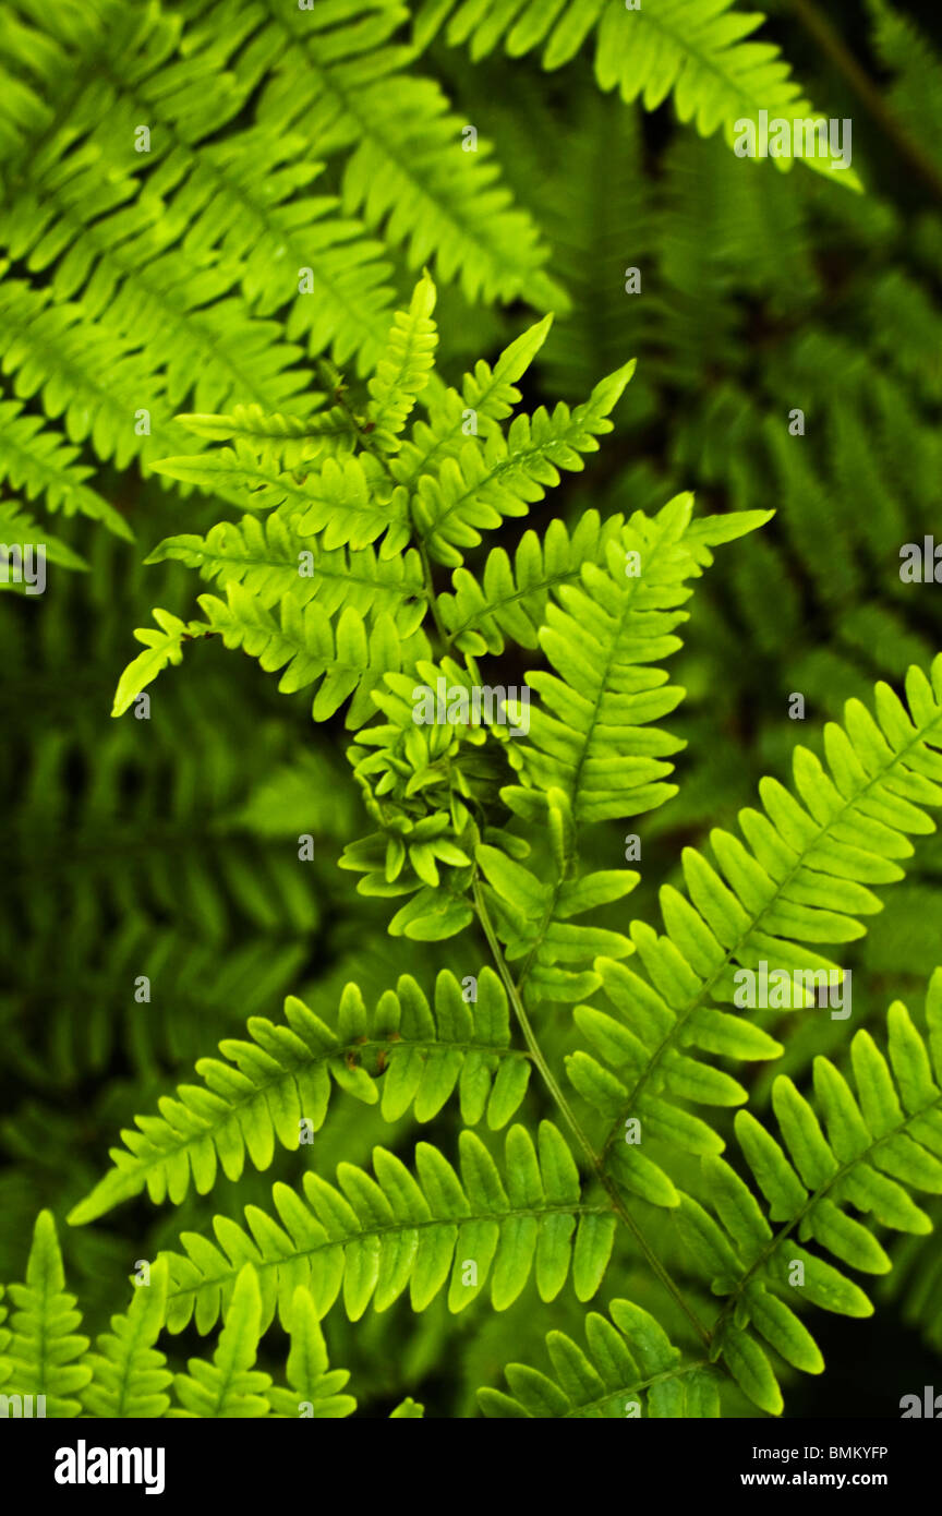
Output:
M648 981L627 969L598 964L612 991L607 1011L577 1013L603 1067L588 1054L569 1060L580 1093L609 1120L604 1149L630 1182L650 1160L622 1140L627 1119L653 1122L659 1137L688 1151L716 1151L701 1122L668 1096L703 1104L738 1104L736 1082L680 1049L694 1043L731 1057L765 1058L778 1049L742 1019L716 1011L710 1001L744 1007L741 970L766 964L769 979L784 970L794 999L781 1008L813 1004L812 988L834 982L842 970L809 943L845 943L863 935L859 916L881 908L871 885L903 878L898 860L912 852L907 834L925 835L934 822L924 807L942 803L942 656L931 681L913 667L906 678L909 709L886 684L875 691L877 719L848 700L845 725L824 729L827 767L806 747L794 755L800 800L775 779L759 793L765 814L744 810L745 843L716 829L710 844L719 872L695 849L683 850L688 894L665 885L659 935L642 922L632 941ZM748 846L747 846L748 844ZM736 969L741 966L741 969ZM792 975L810 976L792 981ZM774 1004L774 1002L772 1002ZM850 1007L848 1007L850 1014ZM706 1143L706 1149L700 1145ZM662 1193L669 1189L659 1186ZM656 1189L645 1198L654 1199ZM641 1192L644 1193L644 1190ZM662 1204L669 1204L668 1199Z

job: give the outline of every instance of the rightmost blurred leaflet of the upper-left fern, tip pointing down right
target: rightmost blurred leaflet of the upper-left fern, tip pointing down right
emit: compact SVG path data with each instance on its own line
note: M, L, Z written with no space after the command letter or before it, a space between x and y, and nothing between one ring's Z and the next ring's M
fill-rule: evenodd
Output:
M529 215L512 206L491 146L462 152L462 118L438 83L406 70L413 50L395 39L407 9L397 0L351 0L300 11L273 0L233 0L224 20L200 0L207 45L248 96L268 74L257 123L303 129L324 158L351 152L341 200L407 265L435 258L441 279L460 279L468 300L535 303L553 297L542 273L548 250ZM291 59L301 67L280 71Z

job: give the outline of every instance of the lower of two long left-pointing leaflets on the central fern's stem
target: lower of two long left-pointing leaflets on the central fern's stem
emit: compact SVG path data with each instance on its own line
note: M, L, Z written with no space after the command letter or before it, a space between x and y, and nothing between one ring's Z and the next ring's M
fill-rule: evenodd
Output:
M248 1229L217 1216L217 1242L194 1233L186 1254L167 1254L171 1286L167 1325L194 1319L206 1333L230 1305L244 1263L262 1289L262 1322L282 1322L298 1284L324 1316L338 1295L351 1320L373 1301L388 1310L409 1289L424 1310L448 1286L448 1310L465 1310L491 1275L491 1304L506 1310L535 1272L541 1299L562 1290L569 1270L580 1301L598 1289L615 1229L609 1205L582 1199L579 1172L560 1132L541 1122L539 1154L524 1126L506 1139L504 1175L471 1131L459 1140L460 1176L429 1143L415 1149L416 1175L385 1148L374 1148L374 1175L338 1166L338 1186L306 1173L304 1198L273 1189L279 1222L245 1208ZM575 1237L572 1237L575 1234Z

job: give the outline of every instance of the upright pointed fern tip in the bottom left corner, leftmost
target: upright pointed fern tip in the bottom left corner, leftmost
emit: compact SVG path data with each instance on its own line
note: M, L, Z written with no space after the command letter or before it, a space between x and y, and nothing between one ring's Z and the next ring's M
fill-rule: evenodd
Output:
M26 1266L26 1283L11 1284L14 1307L5 1395L44 1395L45 1414L73 1417L82 1413L76 1398L91 1380L85 1361L88 1337L76 1333L82 1314L76 1296L65 1292L62 1254L51 1211L39 1211ZM82 1360L82 1361L74 1361Z

